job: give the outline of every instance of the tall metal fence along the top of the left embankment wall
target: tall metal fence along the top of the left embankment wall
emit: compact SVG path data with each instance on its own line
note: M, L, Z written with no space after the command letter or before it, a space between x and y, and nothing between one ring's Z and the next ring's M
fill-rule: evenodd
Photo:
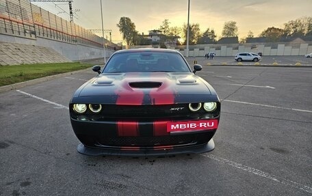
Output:
M103 38L26 0L0 0L0 33L103 47ZM116 48L108 40L105 44Z

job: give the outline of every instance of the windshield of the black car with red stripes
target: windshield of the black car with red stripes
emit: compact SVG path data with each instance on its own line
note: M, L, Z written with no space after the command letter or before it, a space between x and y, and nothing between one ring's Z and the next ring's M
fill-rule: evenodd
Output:
M117 53L107 62L103 73L116 72L191 72L178 53L143 51Z

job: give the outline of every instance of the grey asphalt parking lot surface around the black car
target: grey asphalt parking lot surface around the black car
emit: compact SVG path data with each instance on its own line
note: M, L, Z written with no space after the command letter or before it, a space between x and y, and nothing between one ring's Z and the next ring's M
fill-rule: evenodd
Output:
M1 93L0 195L312 195L312 68L248 64L196 73L222 100L205 154L78 154L68 102L92 70Z

